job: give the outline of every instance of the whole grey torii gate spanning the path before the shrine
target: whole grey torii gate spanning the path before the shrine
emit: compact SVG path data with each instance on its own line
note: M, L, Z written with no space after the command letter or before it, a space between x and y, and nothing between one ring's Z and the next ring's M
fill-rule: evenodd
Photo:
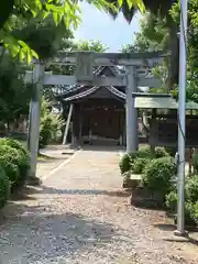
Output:
M52 75L45 72L43 62L35 62L33 72L26 72L25 81L35 84L34 97L30 106L30 128L29 147L31 151L31 178L36 175L36 158L40 138L40 110L43 85L94 85L94 86L125 86L125 120L127 120L127 152L130 153L138 148L138 112L134 108L132 94L138 90L138 86L160 87L162 84L154 78L138 76L138 67L154 67L161 65L168 54L162 53L61 53L48 64L76 65L75 76ZM125 76L117 77L96 77L95 66L124 66ZM66 123L68 131L72 107Z

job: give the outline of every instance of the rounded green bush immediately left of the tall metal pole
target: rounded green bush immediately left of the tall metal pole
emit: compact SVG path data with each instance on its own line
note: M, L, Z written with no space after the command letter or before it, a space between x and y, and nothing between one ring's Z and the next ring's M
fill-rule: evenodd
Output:
M165 198L165 195L168 194L172 188L172 179L175 174L176 166L173 158L161 157L152 160L145 166L142 184L152 193L161 193Z

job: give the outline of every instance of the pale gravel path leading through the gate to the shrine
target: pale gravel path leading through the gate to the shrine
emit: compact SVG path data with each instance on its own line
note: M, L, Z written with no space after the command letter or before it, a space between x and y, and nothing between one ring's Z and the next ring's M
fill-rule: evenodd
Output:
M196 245L154 228L121 189L118 151L85 150L1 215L0 263L198 263ZM6 217L3 217L6 216Z

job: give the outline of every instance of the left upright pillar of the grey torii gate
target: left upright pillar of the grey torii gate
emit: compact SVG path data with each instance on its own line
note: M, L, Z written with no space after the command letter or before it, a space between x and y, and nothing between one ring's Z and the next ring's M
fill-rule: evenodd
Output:
M40 63L35 64L33 72L33 82L35 84L34 95L30 105L30 127L29 127L29 143L31 152L31 169L30 169L30 184L38 184L40 180L36 178L36 163L38 152L38 140L40 140L40 111L41 111L41 97L42 87L44 80L44 65Z

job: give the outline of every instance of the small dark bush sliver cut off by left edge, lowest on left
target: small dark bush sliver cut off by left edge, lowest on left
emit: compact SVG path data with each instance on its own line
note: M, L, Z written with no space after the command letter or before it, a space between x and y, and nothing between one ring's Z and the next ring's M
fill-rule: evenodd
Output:
M2 167L0 167L0 208L6 205L10 197L10 182Z

